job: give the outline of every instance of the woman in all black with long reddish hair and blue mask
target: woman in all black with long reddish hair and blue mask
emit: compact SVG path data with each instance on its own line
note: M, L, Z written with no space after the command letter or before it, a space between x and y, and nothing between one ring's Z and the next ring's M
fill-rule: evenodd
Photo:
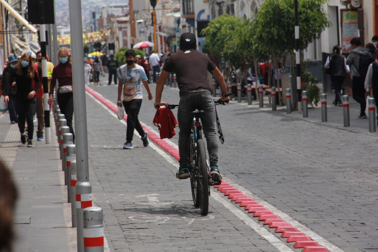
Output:
M32 79L36 82L34 89L31 85ZM9 87L13 82L16 83L16 109L19 115L19 130L21 133L21 142L26 143L28 139L28 147L33 147L34 122L33 115L36 110L36 92L40 85L36 70L34 70L34 62L29 53L22 54L19 62L11 72L5 95L8 96ZM6 97L4 97L5 99ZM25 120L28 124L28 134L25 133Z

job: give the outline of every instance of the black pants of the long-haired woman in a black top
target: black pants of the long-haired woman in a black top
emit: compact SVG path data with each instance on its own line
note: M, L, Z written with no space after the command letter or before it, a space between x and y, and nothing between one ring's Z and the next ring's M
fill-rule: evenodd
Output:
M34 135L34 122L33 116L36 110L36 98L33 99L22 99L17 97L16 108L17 114L19 115L19 130L23 134L25 132L25 120L28 123L28 139L33 140Z

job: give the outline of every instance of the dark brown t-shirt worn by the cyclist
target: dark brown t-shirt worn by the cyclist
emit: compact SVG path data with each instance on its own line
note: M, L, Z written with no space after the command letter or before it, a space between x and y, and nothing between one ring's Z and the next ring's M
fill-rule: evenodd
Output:
M211 91L208 81L208 71L217 67L206 54L195 49L179 51L172 54L163 70L176 73L180 95L196 89Z

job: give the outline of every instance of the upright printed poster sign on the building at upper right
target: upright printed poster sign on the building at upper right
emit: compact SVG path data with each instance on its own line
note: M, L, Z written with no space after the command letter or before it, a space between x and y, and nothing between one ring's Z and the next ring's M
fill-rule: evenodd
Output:
M359 37L358 31L358 12L342 10L342 52L348 53L352 51L350 40Z

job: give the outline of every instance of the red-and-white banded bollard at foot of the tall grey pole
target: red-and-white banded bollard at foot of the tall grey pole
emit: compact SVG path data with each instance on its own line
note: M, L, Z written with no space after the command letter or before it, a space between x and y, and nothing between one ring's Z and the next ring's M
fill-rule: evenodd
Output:
M76 167L76 172L77 167ZM92 206L92 188L89 181L77 181L75 186L77 251L84 251L84 208Z

